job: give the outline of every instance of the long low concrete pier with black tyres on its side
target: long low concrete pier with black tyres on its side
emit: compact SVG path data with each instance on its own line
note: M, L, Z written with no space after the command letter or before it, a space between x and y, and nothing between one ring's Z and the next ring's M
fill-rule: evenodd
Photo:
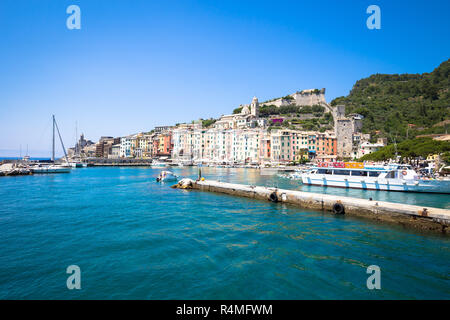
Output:
M191 179L183 179L173 187L288 203L334 214L365 217L416 229L449 234L450 210L446 209L210 180L193 181Z

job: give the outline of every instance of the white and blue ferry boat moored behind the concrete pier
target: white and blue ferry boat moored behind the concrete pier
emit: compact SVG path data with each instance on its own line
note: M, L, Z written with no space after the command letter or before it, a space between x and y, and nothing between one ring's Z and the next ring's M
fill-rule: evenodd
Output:
M363 163L319 163L300 174L307 185L367 190L450 193L449 179L420 178L410 165L364 166Z

